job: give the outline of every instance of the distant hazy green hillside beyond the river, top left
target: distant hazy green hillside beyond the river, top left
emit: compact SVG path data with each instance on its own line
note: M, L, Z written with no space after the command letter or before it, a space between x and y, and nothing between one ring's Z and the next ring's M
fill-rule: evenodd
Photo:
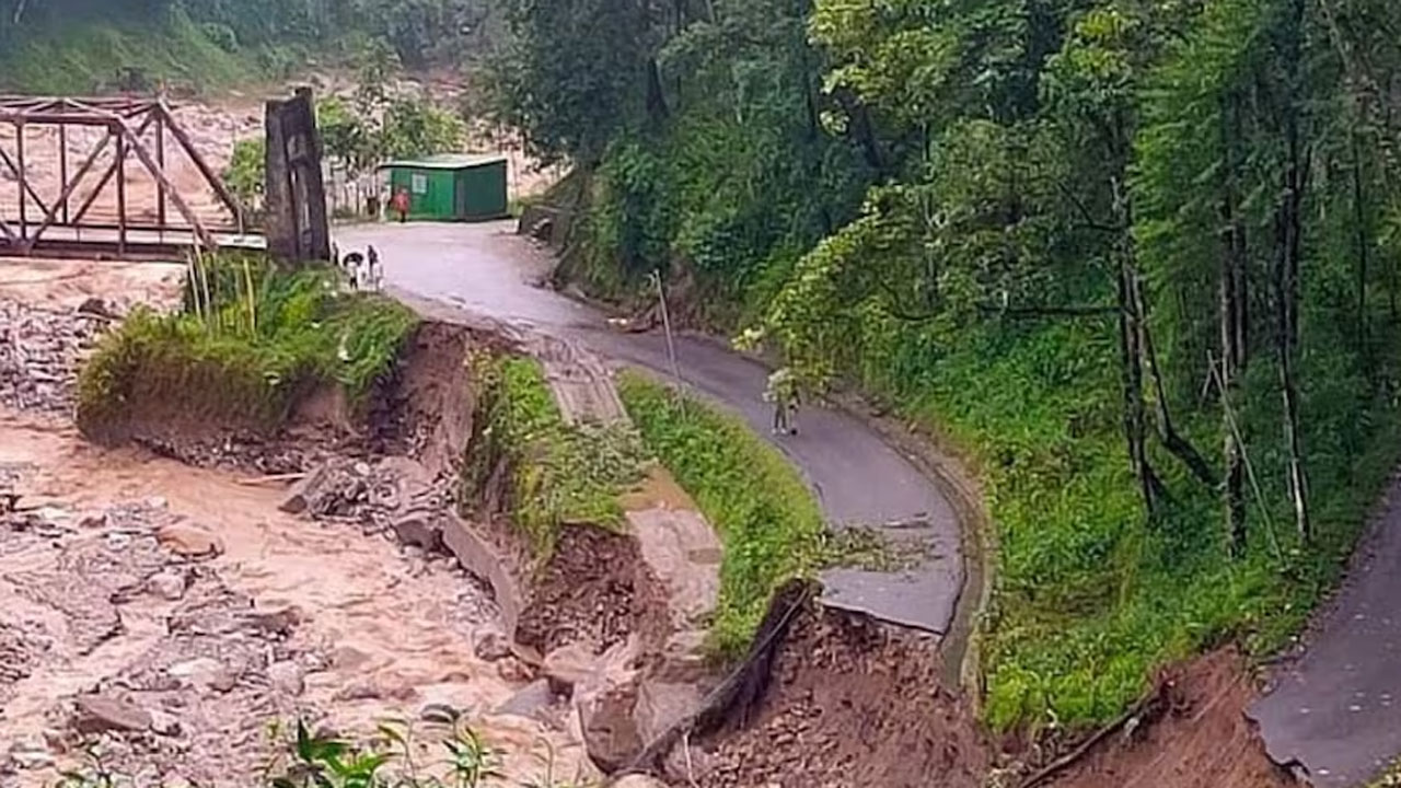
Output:
M0 87L193 88L333 66L370 42L422 69L493 29L488 0L0 0Z

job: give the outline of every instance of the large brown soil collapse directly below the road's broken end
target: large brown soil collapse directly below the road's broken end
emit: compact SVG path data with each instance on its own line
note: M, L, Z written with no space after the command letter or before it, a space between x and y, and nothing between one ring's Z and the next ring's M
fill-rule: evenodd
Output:
M695 784L981 787L989 750L941 672L932 638L813 606L778 653L755 724L693 750Z

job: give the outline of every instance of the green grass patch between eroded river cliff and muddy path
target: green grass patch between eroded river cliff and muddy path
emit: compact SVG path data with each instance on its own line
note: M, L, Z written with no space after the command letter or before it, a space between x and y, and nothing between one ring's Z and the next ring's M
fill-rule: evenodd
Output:
M625 425L569 425L534 359L478 356L479 393L464 468L469 498L481 501L500 473L513 526L542 565L559 529L618 529L619 496L643 478L646 453Z

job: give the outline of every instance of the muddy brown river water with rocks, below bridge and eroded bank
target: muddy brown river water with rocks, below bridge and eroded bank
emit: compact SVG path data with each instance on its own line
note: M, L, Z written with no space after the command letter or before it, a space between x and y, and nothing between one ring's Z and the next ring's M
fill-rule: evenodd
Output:
M6 264L0 299L168 300L168 275ZM269 724L296 718L361 736L405 721L430 763L443 709L513 777L595 774L563 708L511 702L528 672L478 656L499 613L447 557L283 513L283 485L92 446L52 412L0 407L0 477L21 506L0 517L0 785L52 784L94 732L123 733L109 757L142 784L247 785Z

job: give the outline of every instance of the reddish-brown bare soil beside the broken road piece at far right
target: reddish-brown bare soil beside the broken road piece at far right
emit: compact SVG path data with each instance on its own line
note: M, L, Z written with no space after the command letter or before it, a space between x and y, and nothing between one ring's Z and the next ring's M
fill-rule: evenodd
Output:
M1163 679L1156 719L1104 740L1048 782L1058 788L1283 788L1295 778L1265 754L1245 707L1255 698L1233 649Z

